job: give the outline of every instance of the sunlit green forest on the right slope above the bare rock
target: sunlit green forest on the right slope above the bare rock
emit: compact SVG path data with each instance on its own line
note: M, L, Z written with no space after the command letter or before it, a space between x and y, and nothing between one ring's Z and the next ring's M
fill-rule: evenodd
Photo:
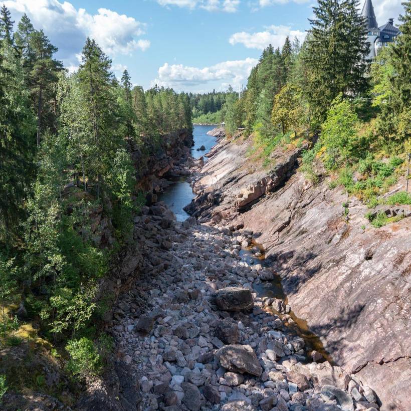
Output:
M358 3L320 0L306 40L268 46L242 98L226 99L227 133L245 127L267 166L276 147L306 141L309 178L328 173L334 186L375 206L411 151L411 5L403 6L401 34L370 61ZM410 203L411 196L397 200Z

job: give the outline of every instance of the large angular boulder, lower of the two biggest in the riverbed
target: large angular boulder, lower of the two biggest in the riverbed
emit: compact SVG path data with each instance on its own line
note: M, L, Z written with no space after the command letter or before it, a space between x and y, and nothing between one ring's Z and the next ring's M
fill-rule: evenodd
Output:
M222 367L233 372L260 376L263 372L257 355L250 345L226 345L216 351Z

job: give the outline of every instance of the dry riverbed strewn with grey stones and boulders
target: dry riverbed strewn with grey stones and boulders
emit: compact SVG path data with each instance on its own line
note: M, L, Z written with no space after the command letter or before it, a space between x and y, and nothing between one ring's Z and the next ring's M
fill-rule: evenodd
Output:
M371 388L294 336L290 307L257 296L274 273L244 261L253 233L238 228L178 223L161 203L135 219L140 275L109 327L139 381L135 408L378 409Z

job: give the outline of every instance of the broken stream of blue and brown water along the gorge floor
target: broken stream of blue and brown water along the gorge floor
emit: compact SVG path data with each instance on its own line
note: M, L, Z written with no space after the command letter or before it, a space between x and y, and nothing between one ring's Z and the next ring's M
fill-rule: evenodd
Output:
M215 145L216 137L207 135L207 132L213 128L214 126L194 126L194 146L191 150L194 158L199 158L208 153ZM202 145L204 145L206 149L198 151L197 149ZM207 157L204 157L204 161L207 161ZM189 217L183 208L191 201L192 198L194 198L194 193L184 177L181 177L178 181L171 182L167 189L159 195L159 200L164 201L167 204L168 208L175 214L177 221L184 221L187 217ZM262 254L260 257L256 257L253 254L253 247L260 248ZM240 251L240 256L243 261L246 261L250 265L261 264L262 266L269 267L268 262L265 260L264 250L256 243L249 249L242 249ZM271 282L255 284L254 290L257 292L259 297L278 298L283 300L285 304L288 304L288 298L284 293L281 285L281 277L279 275L277 275ZM291 311L288 315L294 321L293 324L288 324L288 328L294 332L295 335L298 335L304 339L306 346L308 347L307 351L316 350L324 357L325 360L328 360L331 364L334 364L334 361L332 360L330 354L325 350L320 338L312 333L308 328L307 321L298 318L293 311ZM310 358L307 357L307 361L310 361Z

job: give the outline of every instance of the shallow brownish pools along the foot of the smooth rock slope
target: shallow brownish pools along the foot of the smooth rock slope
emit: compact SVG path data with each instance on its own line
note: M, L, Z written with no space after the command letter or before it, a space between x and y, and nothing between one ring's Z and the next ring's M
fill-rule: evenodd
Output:
M257 247L260 249L260 252L262 253L261 257L256 257L253 254L252 249L254 247ZM242 249L240 251L240 256L242 257L242 260L246 261L248 264L251 264L251 265L261 264L263 267L269 267L269 264L266 262L266 259L264 256L264 250L262 246L257 243L253 243L249 249ZM278 298L278 299L283 300L285 304L288 304L288 297L284 293L283 286L281 284L281 277L279 275L276 275L273 281L264 281L260 284L255 284L253 288L254 288L254 291L257 293L257 296L260 298L262 297ZM278 314L274 310L273 312ZM307 350L308 353L310 351L315 350L324 357L324 360L327 360L331 364L335 365L331 355L324 348L324 345L321 342L320 337L318 337L316 334L314 334L310 330L310 328L308 327L307 321L303 320L302 318L297 317L293 311L291 311L288 315L294 321L294 324L287 325L288 329L291 330L294 333L294 335L298 335L299 337L304 339L305 345L308 348ZM279 314L279 316L281 317L281 314ZM307 362L308 361L311 361L311 358L309 358L309 356L307 356Z

